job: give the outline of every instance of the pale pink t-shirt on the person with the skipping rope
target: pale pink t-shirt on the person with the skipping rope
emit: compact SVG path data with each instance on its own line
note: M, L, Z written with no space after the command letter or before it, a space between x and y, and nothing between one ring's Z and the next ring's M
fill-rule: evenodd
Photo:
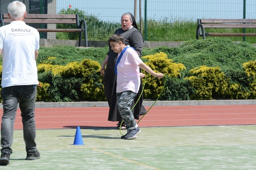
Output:
M118 53L117 58L120 56ZM131 90L138 93L140 87L140 68L142 63L138 53L127 48L117 65L116 92Z

